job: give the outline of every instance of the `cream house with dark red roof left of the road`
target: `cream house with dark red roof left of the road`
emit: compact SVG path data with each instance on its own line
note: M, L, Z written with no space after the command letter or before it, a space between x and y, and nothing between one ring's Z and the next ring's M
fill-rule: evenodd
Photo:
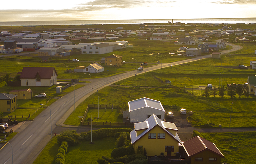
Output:
M20 74L21 86L55 85L57 72L54 67L23 67Z

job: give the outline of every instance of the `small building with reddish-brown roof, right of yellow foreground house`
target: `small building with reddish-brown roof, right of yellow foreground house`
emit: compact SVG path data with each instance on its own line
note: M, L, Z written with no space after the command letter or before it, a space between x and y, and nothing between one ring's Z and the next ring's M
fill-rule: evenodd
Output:
M224 157L214 143L200 136L185 141L183 148L191 164L221 164L221 158Z

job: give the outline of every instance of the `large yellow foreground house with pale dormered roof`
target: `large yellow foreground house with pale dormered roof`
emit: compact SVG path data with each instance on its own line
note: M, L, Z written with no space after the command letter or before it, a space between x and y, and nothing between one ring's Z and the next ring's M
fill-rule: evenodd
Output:
M181 139L174 123L161 121L155 114L143 122L135 123L130 133L131 143L135 153L145 153L148 156L175 156L179 152Z

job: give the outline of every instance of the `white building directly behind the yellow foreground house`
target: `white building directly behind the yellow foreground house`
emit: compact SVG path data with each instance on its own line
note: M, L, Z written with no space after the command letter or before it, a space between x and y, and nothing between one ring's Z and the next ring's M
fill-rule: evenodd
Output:
M145 121L152 114L155 114L159 119L164 120L165 110L160 101L150 98L139 98L128 102L129 111L124 113L124 117L130 118L130 122Z

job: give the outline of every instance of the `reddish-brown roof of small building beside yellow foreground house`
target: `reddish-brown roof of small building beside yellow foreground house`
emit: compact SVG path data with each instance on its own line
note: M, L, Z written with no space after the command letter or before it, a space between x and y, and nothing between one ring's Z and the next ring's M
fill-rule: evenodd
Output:
M214 143L212 143L200 136L196 136L194 138L191 138L191 139L185 141L183 143L183 147L189 157L199 154L206 150L208 150L214 154L217 154L219 156L224 157L224 155L220 152L220 150L215 146Z

